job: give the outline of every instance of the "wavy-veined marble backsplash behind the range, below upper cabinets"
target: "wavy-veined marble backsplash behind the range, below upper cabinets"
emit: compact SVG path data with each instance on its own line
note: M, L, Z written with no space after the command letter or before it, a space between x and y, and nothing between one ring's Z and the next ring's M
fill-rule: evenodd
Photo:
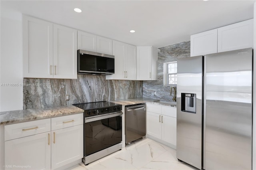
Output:
M142 81L106 80L103 75L77 79L23 79L23 109L142 97ZM69 101L65 101L65 95Z

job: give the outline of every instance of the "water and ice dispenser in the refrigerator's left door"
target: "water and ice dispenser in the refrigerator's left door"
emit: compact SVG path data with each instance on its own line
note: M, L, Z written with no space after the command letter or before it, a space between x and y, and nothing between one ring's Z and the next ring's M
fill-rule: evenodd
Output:
M181 111L196 113L196 94L181 93Z

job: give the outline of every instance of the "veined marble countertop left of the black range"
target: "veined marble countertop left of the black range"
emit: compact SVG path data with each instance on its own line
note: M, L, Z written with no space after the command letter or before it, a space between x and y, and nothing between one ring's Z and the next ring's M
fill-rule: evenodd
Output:
M17 111L0 112L0 124L13 124L39 119L47 119L65 115L83 113L84 110L73 105L54 106L42 109L26 109Z

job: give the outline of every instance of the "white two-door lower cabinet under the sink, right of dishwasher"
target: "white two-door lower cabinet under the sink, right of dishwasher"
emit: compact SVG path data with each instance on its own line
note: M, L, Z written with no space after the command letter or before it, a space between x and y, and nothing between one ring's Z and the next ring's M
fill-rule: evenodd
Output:
M176 108L146 104L147 134L176 146Z

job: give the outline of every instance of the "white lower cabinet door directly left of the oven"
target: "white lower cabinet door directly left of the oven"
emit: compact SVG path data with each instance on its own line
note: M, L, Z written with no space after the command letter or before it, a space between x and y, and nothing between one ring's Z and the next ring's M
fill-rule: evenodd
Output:
M52 169L83 157L83 125L52 131Z

